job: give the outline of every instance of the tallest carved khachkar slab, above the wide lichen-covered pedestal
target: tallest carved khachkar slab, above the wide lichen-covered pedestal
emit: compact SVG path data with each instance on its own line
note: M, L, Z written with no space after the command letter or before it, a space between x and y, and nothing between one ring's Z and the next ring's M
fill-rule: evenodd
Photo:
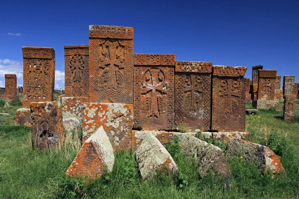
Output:
M90 102L133 103L133 27L89 26Z

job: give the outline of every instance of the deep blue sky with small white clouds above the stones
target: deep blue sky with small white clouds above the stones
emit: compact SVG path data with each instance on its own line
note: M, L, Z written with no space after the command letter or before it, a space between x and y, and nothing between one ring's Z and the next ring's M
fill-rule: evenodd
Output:
M299 82L299 0L2 1L0 87L22 85L22 46L52 47L55 88L64 88L65 45L88 44L88 25L134 27L134 53L175 54L180 61L263 65Z

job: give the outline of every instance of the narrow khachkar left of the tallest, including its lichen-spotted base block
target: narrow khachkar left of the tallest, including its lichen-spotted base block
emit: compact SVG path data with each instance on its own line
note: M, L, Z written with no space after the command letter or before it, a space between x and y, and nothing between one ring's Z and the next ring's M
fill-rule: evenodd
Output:
M83 120L83 104L89 102L88 45L64 46L65 97L61 98L62 117Z

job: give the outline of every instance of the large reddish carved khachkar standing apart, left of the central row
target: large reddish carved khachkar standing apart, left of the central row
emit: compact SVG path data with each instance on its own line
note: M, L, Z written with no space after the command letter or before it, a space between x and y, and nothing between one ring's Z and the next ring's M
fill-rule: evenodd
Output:
M22 47L23 107L30 102L53 101L55 52L53 48Z

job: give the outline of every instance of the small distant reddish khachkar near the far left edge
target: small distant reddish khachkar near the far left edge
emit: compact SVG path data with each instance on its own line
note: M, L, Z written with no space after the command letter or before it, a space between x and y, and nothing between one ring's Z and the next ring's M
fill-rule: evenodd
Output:
M5 74L5 95L4 98L8 98L11 102L19 101L16 92L16 75Z

